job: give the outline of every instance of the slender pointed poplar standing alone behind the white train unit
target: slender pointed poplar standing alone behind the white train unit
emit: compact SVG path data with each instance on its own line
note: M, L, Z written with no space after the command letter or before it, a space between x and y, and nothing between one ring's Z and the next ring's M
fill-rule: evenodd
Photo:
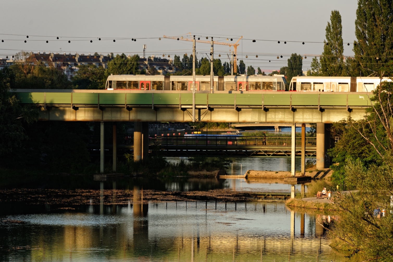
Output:
M320 58L321 76L341 76L344 68L343 61L343 30L341 15L338 10L333 10L330 15L330 22L326 26L326 41L323 46L323 53Z

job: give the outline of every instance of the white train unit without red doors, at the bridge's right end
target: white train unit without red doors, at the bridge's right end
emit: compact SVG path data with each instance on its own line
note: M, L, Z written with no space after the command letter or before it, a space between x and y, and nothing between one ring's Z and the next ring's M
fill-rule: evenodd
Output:
M391 81L384 77L382 81ZM380 83L379 77L293 77L290 91L371 92Z

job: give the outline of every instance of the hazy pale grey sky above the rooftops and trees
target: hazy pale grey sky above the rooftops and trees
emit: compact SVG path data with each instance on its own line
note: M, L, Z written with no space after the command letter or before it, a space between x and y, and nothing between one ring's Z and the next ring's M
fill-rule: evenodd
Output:
M166 39L163 35L186 37L191 33L201 40L213 37L213 40L230 43L242 36L237 58L255 69L277 70L287 65L292 53L298 53L307 56L303 59L303 70L307 70L313 55L323 51L323 43L309 42L325 40L325 28L334 9L342 16L344 55L353 55L356 39L356 0L0 0L0 4L2 58L20 50L105 55L138 53L142 56L143 44L147 45L146 56L182 57L184 53L192 53L192 42ZM121 38L136 38L136 41ZM252 42L253 39L257 41ZM289 41L305 41L305 44ZM347 42L351 44L347 46ZM215 45L214 58L228 62L229 50L229 46ZM206 57L210 45L196 43L196 51L198 59Z

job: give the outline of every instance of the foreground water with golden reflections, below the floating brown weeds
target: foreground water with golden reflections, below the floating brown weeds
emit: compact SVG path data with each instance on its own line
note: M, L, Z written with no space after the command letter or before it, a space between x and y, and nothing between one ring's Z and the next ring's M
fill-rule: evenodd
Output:
M347 261L329 246L329 214L281 202L143 202L86 212L3 214L0 260ZM116 189L114 189L116 191ZM114 210L116 209L116 211ZM3 209L4 210L4 209ZM324 217L325 215L325 217ZM319 223L318 223L319 222ZM306 226L307 225L307 226Z

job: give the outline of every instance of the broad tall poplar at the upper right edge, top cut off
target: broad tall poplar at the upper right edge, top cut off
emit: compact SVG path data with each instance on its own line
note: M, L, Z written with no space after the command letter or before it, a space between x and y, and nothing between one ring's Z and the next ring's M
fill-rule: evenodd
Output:
M392 23L392 0L358 0L353 51L362 75L378 72L392 60Z

